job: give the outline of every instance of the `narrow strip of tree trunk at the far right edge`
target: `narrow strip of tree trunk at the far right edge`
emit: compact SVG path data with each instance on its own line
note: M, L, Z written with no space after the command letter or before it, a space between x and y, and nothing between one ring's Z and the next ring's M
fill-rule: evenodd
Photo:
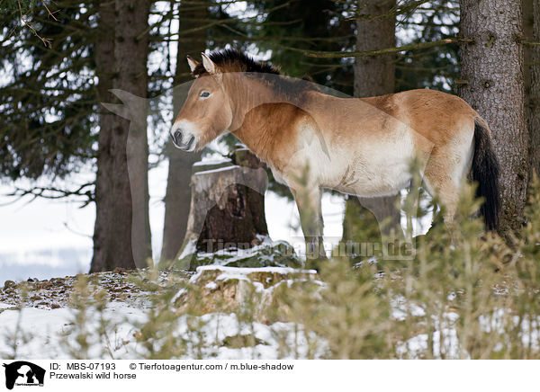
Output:
M525 0L524 16L527 22L525 38L540 42L540 0ZM529 131L529 178L540 175L540 46L527 45L527 128ZM528 82L528 83L527 83Z

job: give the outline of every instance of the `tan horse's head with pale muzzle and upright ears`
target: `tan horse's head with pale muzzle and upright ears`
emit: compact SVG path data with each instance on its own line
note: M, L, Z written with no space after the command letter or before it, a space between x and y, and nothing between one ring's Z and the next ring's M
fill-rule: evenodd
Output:
M170 134L176 147L194 151L229 129L232 110L221 83L220 68L205 54L202 54L202 65L189 56L187 62L195 80ZM201 69L203 72L199 71Z

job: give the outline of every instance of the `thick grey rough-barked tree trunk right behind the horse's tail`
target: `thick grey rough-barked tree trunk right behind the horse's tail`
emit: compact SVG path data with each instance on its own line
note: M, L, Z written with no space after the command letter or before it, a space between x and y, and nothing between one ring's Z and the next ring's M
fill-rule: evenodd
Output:
M500 159L500 232L521 227L527 192L520 0L461 0L461 96L488 122Z

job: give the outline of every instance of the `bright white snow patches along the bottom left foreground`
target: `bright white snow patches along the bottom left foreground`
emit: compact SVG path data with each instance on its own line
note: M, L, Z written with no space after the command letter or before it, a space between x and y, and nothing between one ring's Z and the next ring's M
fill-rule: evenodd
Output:
M7 309L5 309L8 307ZM13 344L17 347L17 358L34 359L70 359L73 351L76 351L76 336L72 334L75 310L71 308L40 309L24 307L21 311L10 309L8 304L0 303L0 308L5 310L0 313L0 357L14 354ZM99 327L98 315L91 312L88 315L88 349L89 359L136 359L144 355L144 347L137 342L135 335L138 329L133 325L140 325L148 320L146 309L131 307L125 303L112 302L103 311L103 316L111 325L114 325L105 340L103 336L98 338L95 331ZM20 318L20 319L19 319ZM205 343L201 344L203 358L215 359L278 359L279 339L284 337L290 345L297 345L297 353L289 356L289 359L306 358L308 341L300 331L295 332L293 323L275 323L265 325L253 323L242 325L238 322L235 314L211 313L199 318L202 325L196 334L190 329L193 325L188 316L180 316L177 320L175 337L184 339L188 351L180 359L193 358L195 352L199 352L199 339L202 337ZM15 335L16 325L20 325L21 331ZM23 335L28 337L24 341ZM235 340L245 341L253 336L253 347L236 347ZM210 342L210 344L208 344ZM214 344L212 344L214 343ZM241 345L243 342L239 342ZM230 347L228 345L231 345ZM320 347L322 353L324 347Z

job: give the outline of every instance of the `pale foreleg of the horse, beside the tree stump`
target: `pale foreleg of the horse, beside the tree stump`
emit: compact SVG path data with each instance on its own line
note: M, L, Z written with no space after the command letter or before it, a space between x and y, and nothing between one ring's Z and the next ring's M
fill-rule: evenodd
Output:
M293 190L294 200L300 213L300 223L306 241L306 256L308 260L326 259L322 241L322 210L320 187L302 187Z

